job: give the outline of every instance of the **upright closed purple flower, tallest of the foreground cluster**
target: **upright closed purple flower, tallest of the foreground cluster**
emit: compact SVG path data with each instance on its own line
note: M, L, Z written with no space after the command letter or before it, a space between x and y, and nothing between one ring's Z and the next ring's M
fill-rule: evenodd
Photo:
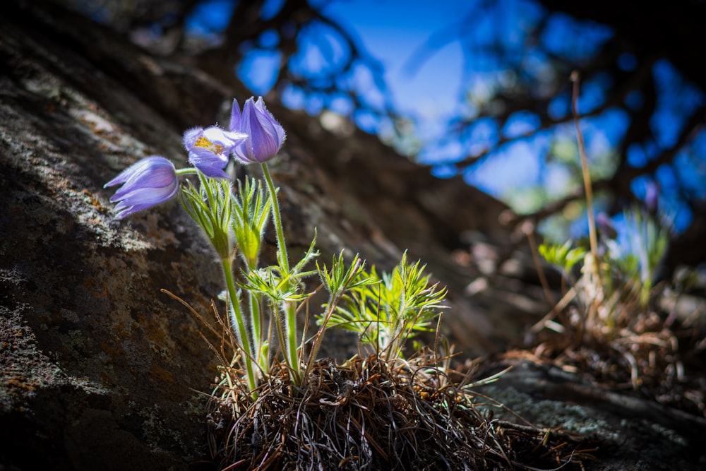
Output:
M237 100L233 100L229 129L248 135L233 150L235 157L246 164L270 160L285 142L285 129L265 108L262 97L256 102L250 97L243 105L242 114Z

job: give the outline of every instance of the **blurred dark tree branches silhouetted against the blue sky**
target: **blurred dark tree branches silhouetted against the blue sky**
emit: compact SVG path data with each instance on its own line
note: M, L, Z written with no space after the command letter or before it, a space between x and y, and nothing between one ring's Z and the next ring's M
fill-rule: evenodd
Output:
M322 13L319 4L307 0L285 0L277 8L264 0L232 0L232 16L224 30L217 32L219 38L210 44L201 44L200 49L189 49L186 20L203 2L197 0L134 0L128 2L64 0L73 4L90 5L93 16L102 17L124 31L150 28L160 25L163 35L178 35L172 54L189 57L198 66L217 76L222 81L238 81L234 71L253 50L264 50L277 54L276 76L273 92L268 99L281 96L284 90L294 88L306 96L317 97L325 108L337 97L346 97L352 114L369 112L378 122L386 121L390 128L402 136L400 126L404 121L390 103L390 90L383 79L384 70L362 46L354 32ZM267 5L266 5L267 4ZM322 4L323 5L323 4ZM468 85L480 73L479 56L492 63L494 70L507 73L512 78L507 83L499 82L485 101L472 104L474 112L460 113L448 123L449 132L438 144L460 140L469 149L459 155L453 163L457 172L465 172L479 165L494 153L506 150L510 145L546 135L570 123L568 112L552 112L558 100L568 102L570 83L568 76L578 70L583 87L596 84L602 95L591 107L580 109L582 121L599 119L609 112L619 111L626 117L628 125L619 136L613 150L614 172L601 176L594 182L595 189L609 196L612 212L635 201L633 181L638 177L652 176L664 166L674 165L685 148L692 145L702 132L706 120L706 104L692 103L694 111L684 111L674 141L660 143L655 136L654 117L662 106L664 90L655 78L655 66L666 59L695 88L704 90L706 63L702 57L706 43L702 40L702 25L706 24L706 4L702 1L674 0L646 6L639 0L616 3L609 0L592 2L565 2L537 0L531 4L534 23L527 23L521 40L507 40L503 25L508 17L508 6L525 8L530 4L521 2L499 2L478 0L469 3L467 13L452 19L448 28L432 35L408 59L406 70L415 73L425 61L441 47L450 42L460 42L465 54L462 64L463 80L467 88L460 90L460 97L475 99ZM271 11L264 13L268 6ZM97 9L96 9L97 8ZM101 9L102 8L102 9ZM109 13L106 13L108 11ZM371 13L374 14L374 13ZM610 28L597 49L566 51L551 47L546 35L551 32L554 20L566 14L575 21L606 25ZM481 22L493 25L489 37L481 39L474 32L482 29ZM578 24L578 23L577 23ZM574 28L572 30L571 28ZM565 32L568 44L580 36L579 26L573 25ZM578 29L577 29L578 28ZM605 29L605 28L604 28ZM263 42L265 35L275 35L277 40ZM306 39L316 44L325 59L325 66L309 70L301 64L307 49ZM580 37L578 39L581 39ZM590 40L586 40L589 42ZM335 54L334 47L339 54ZM621 63L629 56L633 64ZM532 69L532 61L542 61L540 71ZM535 64L536 65L536 64ZM366 98L369 90L357 88L352 78L359 68L371 76L371 85L383 97L382 105L373 104ZM675 85L676 86L676 85ZM662 85L664 87L664 85ZM637 104L630 100L638 97ZM536 117L532 129L508 134L503 131L517 114L528 113ZM469 145L474 126L481 122L492 122L495 136L486 145ZM630 160L630 152L638 150L645 155L640 162ZM551 152L551 151L550 151ZM547 160L551 156L544 156ZM678 180L678 179L677 179ZM693 211L696 219L706 218L698 203L702 196L683 191L681 197ZM568 189L566 194L548 201L544 208L527 215L533 220L561 211L568 203L582 198L580 191ZM698 225L697 225L698 226Z

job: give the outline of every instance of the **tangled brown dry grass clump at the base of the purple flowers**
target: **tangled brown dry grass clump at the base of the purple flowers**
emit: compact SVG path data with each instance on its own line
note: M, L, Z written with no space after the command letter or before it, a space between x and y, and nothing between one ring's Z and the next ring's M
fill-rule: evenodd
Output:
M221 470L536 470L591 458L556 430L494 420L483 406L504 406L429 352L319 361L301 388L280 367L256 399L233 386L209 415Z

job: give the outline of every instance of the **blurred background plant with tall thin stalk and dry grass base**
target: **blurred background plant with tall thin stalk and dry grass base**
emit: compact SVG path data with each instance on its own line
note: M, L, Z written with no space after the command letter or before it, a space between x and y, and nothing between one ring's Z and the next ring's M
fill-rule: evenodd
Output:
M574 113L583 160L585 148ZM698 311L690 313L697 316L680 316L674 306L662 302L675 282L660 273L672 225L670 217L659 213L657 188L648 191L645 205L626 208L616 227L603 213L592 217L591 179L587 166L582 170L589 238L538 247L568 285L563 285L562 298L551 312L530 329L527 345L537 357L550 358L570 371L591 372L612 388L629 385L659 402L703 415L700 380L694 379L693 369L685 372L685 361L693 362L704 350L702 319Z

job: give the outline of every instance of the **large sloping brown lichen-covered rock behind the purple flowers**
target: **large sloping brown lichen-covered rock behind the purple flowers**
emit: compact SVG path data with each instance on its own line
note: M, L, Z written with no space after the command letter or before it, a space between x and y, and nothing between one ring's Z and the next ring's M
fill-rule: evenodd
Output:
M207 313L218 266L178 203L120 222L102 186L147 155L185 163L181 132L213 124L244 90L52 4L0 9L0 465L198 467L215 358L203 326L160 289ZM289 131L273 173L294 251L317 227L323 254L389 267L409 244L448 261L426 244L458 228L426 217L444 192L482 193L446 186L372 136L341 146L316 119L271 109ZM479 198L489 213L503 207ZM351 354L347 342L321 353Z

